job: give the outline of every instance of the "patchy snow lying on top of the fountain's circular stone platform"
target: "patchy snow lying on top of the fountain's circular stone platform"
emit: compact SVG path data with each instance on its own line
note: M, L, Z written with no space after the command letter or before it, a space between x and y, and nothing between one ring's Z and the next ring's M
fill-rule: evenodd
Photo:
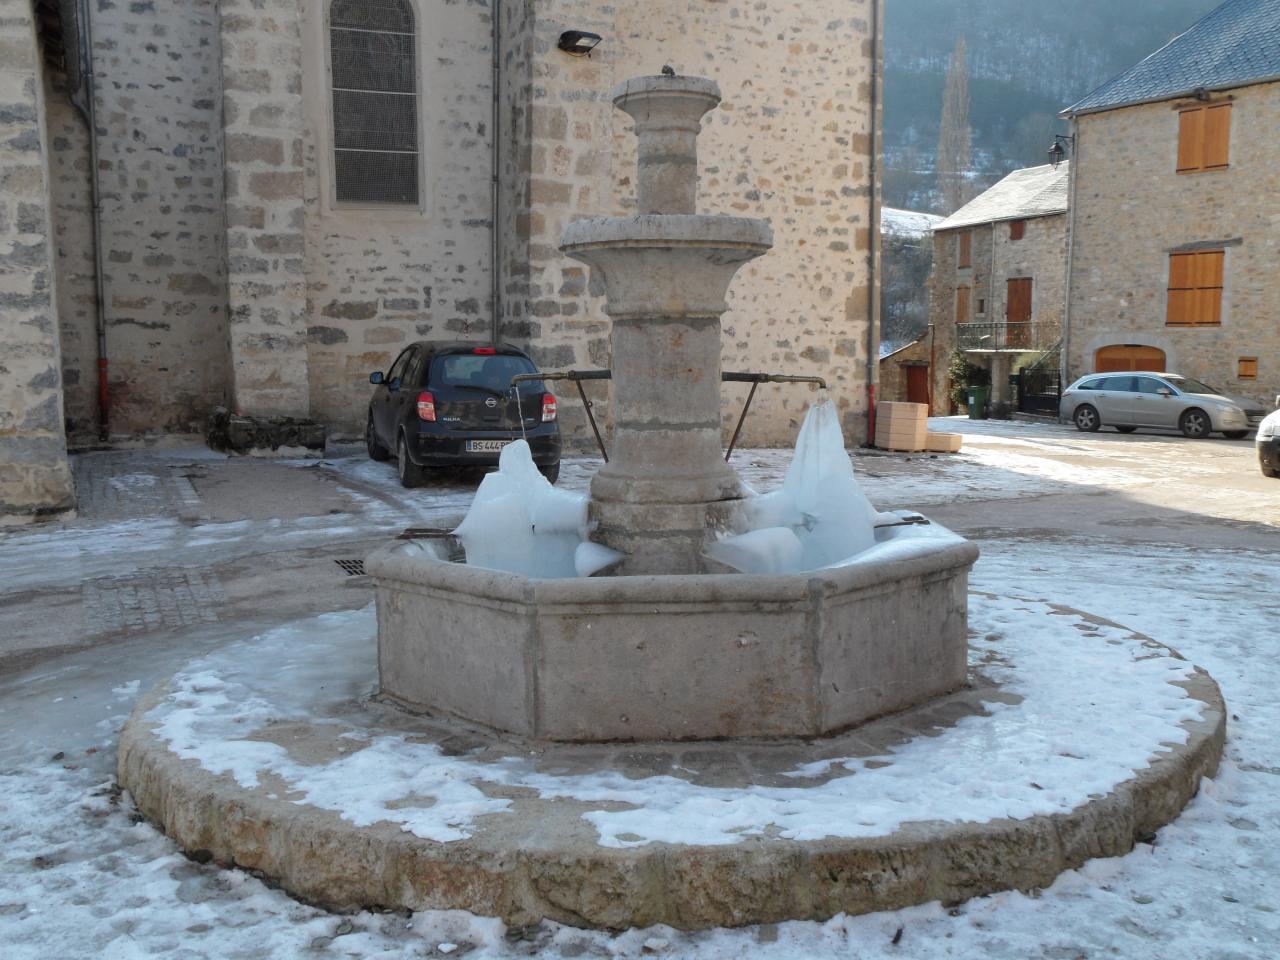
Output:
M477 786L497 783L548 799L627 804L584 814L600 845L612 847L737 844L769 827L792 840L874 837L913 820L1060 813L1111 792L1146 767L1155 745L1187 741L1179 724L1199 709L1170 682L1188 675L1185 662L1152 655L1126 630L1097 627L1101 636L1082 639L1079 621L1053 616L1042 603L974 596L969 616L979 637L970 660L998 658L986 672L1023 701L992 703L991 717L966 717L872 765L837 754L826 764L835 776L817 785L707 787L673 776L552 776L524 760L447 756L403 736L361 744L358 726L344 756L308 765L283 746L252 739L274 722L315 722L334 698L374 690L371 607L292 623L198 659L147 719L179 756L229 773L246 788L278 774L298 791L297 803L358 826L388 820L426 840L460 840L474 833L477 817L509 809L508 800L490 799ZM403 803L415 797L433 803Z

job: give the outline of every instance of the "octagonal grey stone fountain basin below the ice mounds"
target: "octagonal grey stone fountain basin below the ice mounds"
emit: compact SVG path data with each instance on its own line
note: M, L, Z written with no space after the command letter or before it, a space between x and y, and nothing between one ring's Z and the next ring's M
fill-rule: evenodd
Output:
M539 580L403 544L365 568L393 703L543 740L690 740L822 736L955 690L977 557L904 522L795 575Z

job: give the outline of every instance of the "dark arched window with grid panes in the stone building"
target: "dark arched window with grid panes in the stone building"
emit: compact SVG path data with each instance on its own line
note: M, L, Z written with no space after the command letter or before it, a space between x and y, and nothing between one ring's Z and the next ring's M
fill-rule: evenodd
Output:
M333 0L334 198L417 205L417 69L410 0Z

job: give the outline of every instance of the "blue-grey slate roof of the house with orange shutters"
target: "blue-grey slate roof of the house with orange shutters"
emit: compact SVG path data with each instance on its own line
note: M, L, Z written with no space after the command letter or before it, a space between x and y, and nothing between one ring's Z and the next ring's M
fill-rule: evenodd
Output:
M1280 0L1226 0L1064 116L1280 79Z

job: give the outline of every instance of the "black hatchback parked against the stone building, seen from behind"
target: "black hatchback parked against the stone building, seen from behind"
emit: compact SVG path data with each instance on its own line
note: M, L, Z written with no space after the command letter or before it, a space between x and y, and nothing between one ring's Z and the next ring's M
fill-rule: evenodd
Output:
M417 486L430 467L494 466L503 447L524 438L534 463L556 483L556 398L541 380L522 380L518 390L511 385L511 378L536 372L534 361L506 344L413 343L389 371L369 375L378 385L365 430L369 456L394 454L401 483Z

